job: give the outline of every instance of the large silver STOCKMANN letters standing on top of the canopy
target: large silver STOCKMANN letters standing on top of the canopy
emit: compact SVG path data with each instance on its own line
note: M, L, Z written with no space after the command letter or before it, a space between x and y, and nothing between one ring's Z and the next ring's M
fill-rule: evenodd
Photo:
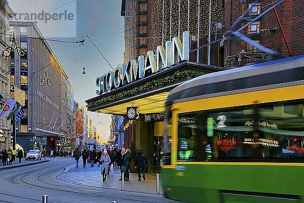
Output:
M96 78L96 94L119 88L123 85L144 78L150 74L177 65L179 61L189 60L189 32L183 32L182 43L179 37L166 42L166 51L163 46L158 46L156 56L153 51L148 51L146 56L139 56L137 61L131 60L128 65L117 67Z

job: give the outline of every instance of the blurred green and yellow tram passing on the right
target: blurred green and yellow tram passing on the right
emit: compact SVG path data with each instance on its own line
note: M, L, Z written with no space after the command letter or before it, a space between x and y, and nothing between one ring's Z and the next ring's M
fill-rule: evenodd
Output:
M304 55L195 78L166 105L167 198L304 202Z

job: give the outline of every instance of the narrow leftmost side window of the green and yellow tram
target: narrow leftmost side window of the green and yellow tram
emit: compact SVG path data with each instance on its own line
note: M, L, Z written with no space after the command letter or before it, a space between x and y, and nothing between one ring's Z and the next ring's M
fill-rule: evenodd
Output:
M196 160L200 146L196 113L180 114L178 116L178 160Z

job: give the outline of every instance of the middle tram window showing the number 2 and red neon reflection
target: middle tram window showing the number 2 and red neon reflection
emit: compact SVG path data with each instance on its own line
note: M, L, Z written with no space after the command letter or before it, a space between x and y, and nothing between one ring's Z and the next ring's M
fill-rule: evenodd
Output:
M260 157L251 145L257 137L253 115L253 109L208 113L206 160Z

